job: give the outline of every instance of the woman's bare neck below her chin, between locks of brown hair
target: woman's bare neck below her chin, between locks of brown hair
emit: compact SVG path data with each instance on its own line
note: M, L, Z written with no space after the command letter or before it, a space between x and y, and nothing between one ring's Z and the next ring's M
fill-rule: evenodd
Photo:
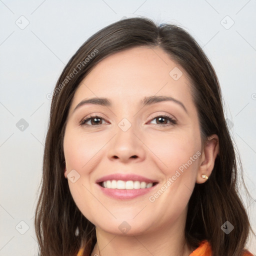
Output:
M97 243L91 255L98 256L188 256L192 249L185 242L179 221L146 234L117 235L96 227Z

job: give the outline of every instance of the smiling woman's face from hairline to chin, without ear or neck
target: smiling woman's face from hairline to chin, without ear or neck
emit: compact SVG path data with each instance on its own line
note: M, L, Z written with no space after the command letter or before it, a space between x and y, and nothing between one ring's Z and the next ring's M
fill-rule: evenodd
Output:
M77 207L98 228L133 235L184 223L201 161L188 84L166 52L143 46L106 57L77 88L64 175Z

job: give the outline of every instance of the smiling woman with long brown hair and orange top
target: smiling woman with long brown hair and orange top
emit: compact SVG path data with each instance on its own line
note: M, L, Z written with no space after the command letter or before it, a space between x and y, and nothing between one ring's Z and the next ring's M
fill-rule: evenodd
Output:
M218 80L187 32L115 22L51 95L40 255L252 255Z

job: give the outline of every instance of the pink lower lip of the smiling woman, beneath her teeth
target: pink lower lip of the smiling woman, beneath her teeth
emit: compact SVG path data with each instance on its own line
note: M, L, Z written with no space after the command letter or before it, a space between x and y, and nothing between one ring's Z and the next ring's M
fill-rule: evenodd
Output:
M101 185L97 184L101 191L106 194L107 196L115 199L133 199L135 197L144 195L148 192L150 192L154 186L148 187L148 188L139 188L139 189L117 189L117 188L106 188L102 187Z

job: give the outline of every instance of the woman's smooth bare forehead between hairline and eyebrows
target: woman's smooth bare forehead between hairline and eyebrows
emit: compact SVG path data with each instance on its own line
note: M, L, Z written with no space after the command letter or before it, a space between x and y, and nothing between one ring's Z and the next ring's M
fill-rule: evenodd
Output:
M189 77L159 47L139 46L107 56L80 83L73 103L89 97L107 97L124 103L161 95L191 100Z

